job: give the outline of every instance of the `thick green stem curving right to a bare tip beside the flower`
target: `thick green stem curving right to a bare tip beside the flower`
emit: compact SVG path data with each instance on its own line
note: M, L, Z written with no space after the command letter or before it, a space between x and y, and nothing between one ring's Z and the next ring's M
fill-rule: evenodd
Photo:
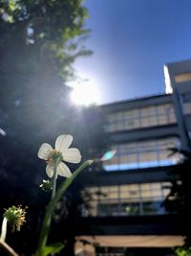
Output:
M54 197L50 200L49 204L46 207L44 220L42 222L42 227L40 230L39 240L38 240L38 247L36 250L36 256L45 256L44 249L47 244L48 235L51 227L51 221L53 218L53 212L55 209L55 206L57 202L62 198L65 191L68 189L68 187L73 183L74 178L87 166L91 165L93 163L92 160L88 160L84 162L75 172L74 174L67 178L65 182L59 187L57 192L55 193Z

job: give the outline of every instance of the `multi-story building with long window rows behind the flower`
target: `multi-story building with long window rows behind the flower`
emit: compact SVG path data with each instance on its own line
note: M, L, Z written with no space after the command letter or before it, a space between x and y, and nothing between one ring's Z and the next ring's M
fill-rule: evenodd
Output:
M183 242L177 215L162 202L180 161L170 148L190 151L191 60L166 64L164 77L166 94L101 106L116 153L105 172L89 174L91 208L82 213L76 255L163 256Z

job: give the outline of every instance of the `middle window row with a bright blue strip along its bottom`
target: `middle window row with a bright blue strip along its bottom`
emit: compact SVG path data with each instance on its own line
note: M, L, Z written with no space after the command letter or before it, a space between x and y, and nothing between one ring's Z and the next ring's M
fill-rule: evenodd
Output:
M178 138L163 138L158 140L138 141L113 146L116 154L105 161L106 171L128 170L157 166L174 165L180 160L180 155L169 157L170 148L179 148Z

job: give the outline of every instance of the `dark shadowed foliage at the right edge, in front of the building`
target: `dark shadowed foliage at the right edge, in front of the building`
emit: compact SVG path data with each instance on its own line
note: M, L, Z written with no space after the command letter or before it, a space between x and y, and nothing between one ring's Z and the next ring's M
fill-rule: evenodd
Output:
M189 250L191 247L191 153L187 151L178 151L176 149L173 150L173 153L181 153L183 158L180 161L180 164L169 173L172 186L169 195L164 201L164 205L169 212L179 215L182 235L185 236L182 248Z

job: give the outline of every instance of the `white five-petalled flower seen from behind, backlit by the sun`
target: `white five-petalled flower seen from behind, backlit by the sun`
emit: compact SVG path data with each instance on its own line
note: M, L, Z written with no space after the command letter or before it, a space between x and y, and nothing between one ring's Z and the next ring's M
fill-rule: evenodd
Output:
M46 173L49 177L53 177L55 159L59 159L57 165L57 175L70 177L72 175L70 169L62 161L69 163L79 163L81 154L75 148L70 148L73 142L73 136L70 134L62 134L55 141L55 149L48 143L43 143L38 151L38 157L47 161Z

